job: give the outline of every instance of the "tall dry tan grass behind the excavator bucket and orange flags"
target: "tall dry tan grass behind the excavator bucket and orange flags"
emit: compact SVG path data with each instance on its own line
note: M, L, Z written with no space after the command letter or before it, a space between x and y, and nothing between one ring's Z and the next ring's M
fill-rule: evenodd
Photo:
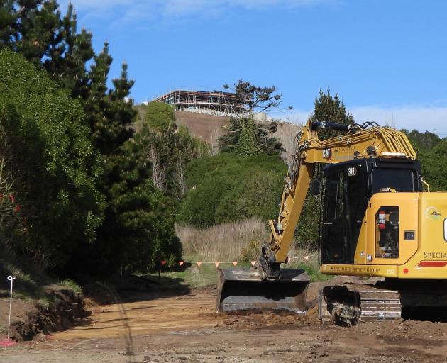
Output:
M259 218L250 218L235 223L223 223L210 228L194 228L191 226L176 227L177 235L183 244L184 261L189 266L182 271L163 272L161 284L169 286L171 281L182 281L192 288L214 285L217 282L216 265L213 262L221 262L219 268L232 268L233 261L254 261L258 259L260 245L267 241L270 234ZM306 261L303 257L307 256ZM292 247L289 250L292 261L283 264L282 268L304 269L311 281L325 281L330 276L319 271L318 254L309 245L304 247ZM211 262L200 267L197 261ZM222 263L226 262L226 263ZM239 263L238 267L251 267L250 263ZM151 279L158 279L156 274L150 275Z

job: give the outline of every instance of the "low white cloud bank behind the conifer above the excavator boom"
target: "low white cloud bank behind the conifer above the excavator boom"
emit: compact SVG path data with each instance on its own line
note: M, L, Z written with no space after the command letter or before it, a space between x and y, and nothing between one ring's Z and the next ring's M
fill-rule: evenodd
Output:
M394 128L407 130L419 130L421 132L430 131L437 133L441 137L447 136L447 106L397 106L386 108L381 106L357 106L348 108L355 121L363 123L365 121L375 121L379 125L389 125ZM282 119L305 123L311 111L296 111Z

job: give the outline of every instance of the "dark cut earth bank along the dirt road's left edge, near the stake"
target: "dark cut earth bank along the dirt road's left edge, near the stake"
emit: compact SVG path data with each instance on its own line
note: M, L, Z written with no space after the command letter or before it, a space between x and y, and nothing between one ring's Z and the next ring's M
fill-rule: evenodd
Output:
M45 294L52 303L35 304L28 311L23 311L16 321L11 323L11 338L17 342L32 340L38 334L70 328L77 319L85 318L89 311L84 308L82 296L61 286L45 287Z

